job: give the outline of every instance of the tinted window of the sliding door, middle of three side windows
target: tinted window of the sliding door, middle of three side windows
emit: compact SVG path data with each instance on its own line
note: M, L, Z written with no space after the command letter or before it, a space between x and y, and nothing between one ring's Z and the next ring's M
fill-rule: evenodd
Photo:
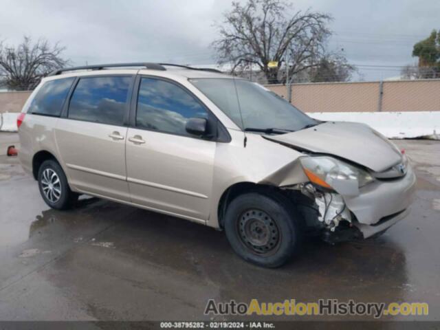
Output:
M122 125L131 77L80 78L69 104L68 118Z

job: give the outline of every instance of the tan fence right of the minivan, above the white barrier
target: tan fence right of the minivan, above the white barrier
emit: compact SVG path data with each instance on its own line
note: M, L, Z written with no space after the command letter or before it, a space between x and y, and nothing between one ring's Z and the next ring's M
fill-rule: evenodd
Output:
M286 85L266 85L287 99ZM440 79L292 84L292 104L305 112L440 111Z

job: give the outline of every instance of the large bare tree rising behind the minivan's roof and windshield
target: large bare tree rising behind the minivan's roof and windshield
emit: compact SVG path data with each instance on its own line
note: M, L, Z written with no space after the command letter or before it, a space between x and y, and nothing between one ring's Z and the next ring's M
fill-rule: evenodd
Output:
M290 76L318 65L325 54L325 42L330 36L329 14L292 12L292 5L283 0L248 0L241 5L232 2L219 25L220 37L212 43L219 63L232 63L232 72L241 63L258 65L268 83L279 83L280 68L289 54ZM268 63L275 61L277 67Z

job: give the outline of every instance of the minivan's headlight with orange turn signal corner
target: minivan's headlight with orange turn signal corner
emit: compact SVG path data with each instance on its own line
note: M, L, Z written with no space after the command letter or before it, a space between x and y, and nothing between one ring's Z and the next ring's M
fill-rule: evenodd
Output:
M311 182L334 189L341 194L357 195L360 187L374 181L374 178L366 170L333 157L301 157L300 162Z

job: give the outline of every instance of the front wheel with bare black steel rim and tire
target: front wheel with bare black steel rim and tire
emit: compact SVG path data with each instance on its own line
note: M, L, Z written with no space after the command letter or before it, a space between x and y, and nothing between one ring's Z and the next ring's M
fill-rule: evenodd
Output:
M250 192L229 204L224 227L236 254L250 263L272 268L298 252L302 221L283 195Z

